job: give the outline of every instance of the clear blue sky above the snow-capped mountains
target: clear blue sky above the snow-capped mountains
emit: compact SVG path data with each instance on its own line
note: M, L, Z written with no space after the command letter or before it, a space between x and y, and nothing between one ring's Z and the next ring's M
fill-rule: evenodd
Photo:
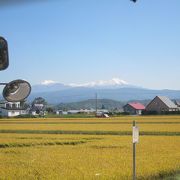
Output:
M0 82L180 89L179 0L47 0L0 7L0 19L10 56Z

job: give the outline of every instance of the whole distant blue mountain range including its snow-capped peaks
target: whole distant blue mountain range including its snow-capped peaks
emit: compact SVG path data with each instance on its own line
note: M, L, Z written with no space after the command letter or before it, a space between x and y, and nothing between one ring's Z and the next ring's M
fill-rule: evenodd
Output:
M35 97L43 97L48 103L60 104L95 99L96 93L98 99L111 99L121 102L153 99L157 95L167 96L170 99L180 99L180 90L145 89L113 78L109 81L69 85L45 81L42 84L32 86L32 93L28 100L32 101Z

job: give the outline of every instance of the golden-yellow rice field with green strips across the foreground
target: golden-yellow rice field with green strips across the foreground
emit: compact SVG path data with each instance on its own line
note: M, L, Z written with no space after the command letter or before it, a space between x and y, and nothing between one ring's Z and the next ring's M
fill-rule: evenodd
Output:
M132 120L137 179L179 173L180 116L0 119L0 179L131 180Z

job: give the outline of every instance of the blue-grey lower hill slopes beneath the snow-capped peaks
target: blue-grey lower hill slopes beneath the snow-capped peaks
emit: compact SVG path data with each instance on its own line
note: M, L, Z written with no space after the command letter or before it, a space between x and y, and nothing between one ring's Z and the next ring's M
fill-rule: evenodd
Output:
M32 91L29 101L35 97L43 97L51 104L60 104L68 102L79 102L87 99L95 99L97 93L98 99L112 99L116 101L146 100L153 99L155 96L167 96L170 99L180 99L178 90L151 90L143 88L117 88L117 89L97 89L97 88L69 88L66 90L50 92Z

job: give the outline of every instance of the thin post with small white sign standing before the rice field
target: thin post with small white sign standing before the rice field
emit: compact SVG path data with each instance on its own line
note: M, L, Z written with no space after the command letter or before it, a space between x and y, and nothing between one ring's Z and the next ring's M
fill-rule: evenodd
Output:
M139 142L139 128L133 121L133 180L136 180L136 143Z

